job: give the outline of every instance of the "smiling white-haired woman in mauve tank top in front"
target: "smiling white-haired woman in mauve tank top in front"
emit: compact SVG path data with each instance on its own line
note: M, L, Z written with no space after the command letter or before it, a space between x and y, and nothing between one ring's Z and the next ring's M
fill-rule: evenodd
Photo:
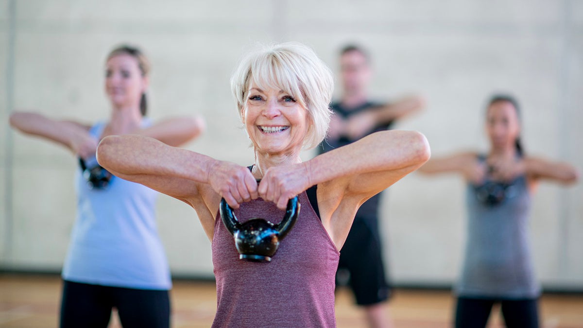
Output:
M250 168L141 136L104 138L99 162L196 210L212 241L213 326L333 327L339 250L354 214L367 198L419 168L429 145L419 132L381 131L302 162L301 149L317 146L328 130L333 89L328 67L302 44L248 55L231 89L253 146ZM219 215L221 198L240 222L261 217L279 223L296 195L299 216L271 261L241 260Z

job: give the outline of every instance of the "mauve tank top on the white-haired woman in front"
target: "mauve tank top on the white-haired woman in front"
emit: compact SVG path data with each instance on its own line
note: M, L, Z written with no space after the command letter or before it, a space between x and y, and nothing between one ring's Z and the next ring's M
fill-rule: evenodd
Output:
M334 284L339 252L305 193L300 215L271 262L239 259L233 236L217 214L213 266L217 312L213 327L335 327ZM277 224L285 211L261 199L241 204L237 219Z

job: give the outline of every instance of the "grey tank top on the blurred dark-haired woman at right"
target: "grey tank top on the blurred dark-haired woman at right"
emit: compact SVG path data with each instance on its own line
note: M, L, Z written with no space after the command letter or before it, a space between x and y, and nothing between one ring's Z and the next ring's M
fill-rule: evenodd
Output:
M500 299L540 295L531 259L526 177L510 183L504 200L494 205L480 201L476 187L468 184L466 191L468 233L456 294Z

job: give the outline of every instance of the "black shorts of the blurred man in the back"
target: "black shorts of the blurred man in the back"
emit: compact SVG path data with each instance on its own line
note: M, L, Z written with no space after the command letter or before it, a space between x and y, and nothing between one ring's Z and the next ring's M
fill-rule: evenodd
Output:
M373 305L386 301L391 288L385 278L382 246L377 222L356 218L340 250L336 284L352 288L358 305Z

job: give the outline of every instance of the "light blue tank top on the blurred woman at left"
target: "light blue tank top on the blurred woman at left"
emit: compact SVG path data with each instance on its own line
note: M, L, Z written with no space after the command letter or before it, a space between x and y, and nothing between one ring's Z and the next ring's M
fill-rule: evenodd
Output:
M90 134L99 138L105 125L97 123ZM170 271L154 216L158 193L115 176L107 189L90 189L80 169L75 184L77 217L62 271L64 280L170 289Z

